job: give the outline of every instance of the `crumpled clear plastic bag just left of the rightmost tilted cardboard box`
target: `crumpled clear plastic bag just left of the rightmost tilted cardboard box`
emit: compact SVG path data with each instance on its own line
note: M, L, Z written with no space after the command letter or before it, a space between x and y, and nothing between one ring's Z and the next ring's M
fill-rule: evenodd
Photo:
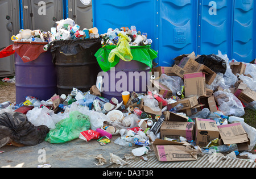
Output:
M241 101L234 94L225 91L216 91L213 95L218 104L218 109L224 115L237 117L245 115Z

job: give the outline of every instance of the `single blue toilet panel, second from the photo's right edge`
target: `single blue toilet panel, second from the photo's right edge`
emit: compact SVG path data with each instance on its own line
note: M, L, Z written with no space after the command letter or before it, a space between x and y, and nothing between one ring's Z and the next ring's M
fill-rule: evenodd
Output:
M211 9L212 2L203 0L201 13L199 12L199 46L200 55L222 54L232 55L232 11L233 1L216 0ZM209 6L210 5L210 6ZM214 12L215 11L215 12Z

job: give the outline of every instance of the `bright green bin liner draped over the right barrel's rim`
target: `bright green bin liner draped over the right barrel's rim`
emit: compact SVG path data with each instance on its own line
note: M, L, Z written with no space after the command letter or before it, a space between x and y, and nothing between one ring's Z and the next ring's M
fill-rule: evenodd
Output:
M96 53L98 64L104 72L108 72L115 65L117 65L120 61L118 56L115 56L114 62L109 62L109 55L113 49L117 48L114 45L108 45L106 47L102 47ZM152 69L152 61L156 59L158 56L158 52L151 49L151 45L147 46L131 46L131 54L133 55L133 60L144 63Z

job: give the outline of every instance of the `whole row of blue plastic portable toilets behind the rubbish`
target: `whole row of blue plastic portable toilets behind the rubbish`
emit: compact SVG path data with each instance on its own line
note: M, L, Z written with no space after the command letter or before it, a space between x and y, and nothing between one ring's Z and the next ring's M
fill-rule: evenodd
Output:
M214 5L212 3L215 3ZM228 54L249 63L256 58L256 5L254 0L97 0L94 27L137 26L153 40L159 66L174 64L176 56ZM215 13L210 13L214 11Z

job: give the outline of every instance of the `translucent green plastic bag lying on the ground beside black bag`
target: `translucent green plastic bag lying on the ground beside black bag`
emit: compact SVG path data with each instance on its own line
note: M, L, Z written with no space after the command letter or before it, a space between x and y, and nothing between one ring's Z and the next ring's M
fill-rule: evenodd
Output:
M61 120L56 124L54 130L49 131L46 141L51 144L65 143L79 138L80 132L90 129L89 116L73 111L69 114L69 118Z

